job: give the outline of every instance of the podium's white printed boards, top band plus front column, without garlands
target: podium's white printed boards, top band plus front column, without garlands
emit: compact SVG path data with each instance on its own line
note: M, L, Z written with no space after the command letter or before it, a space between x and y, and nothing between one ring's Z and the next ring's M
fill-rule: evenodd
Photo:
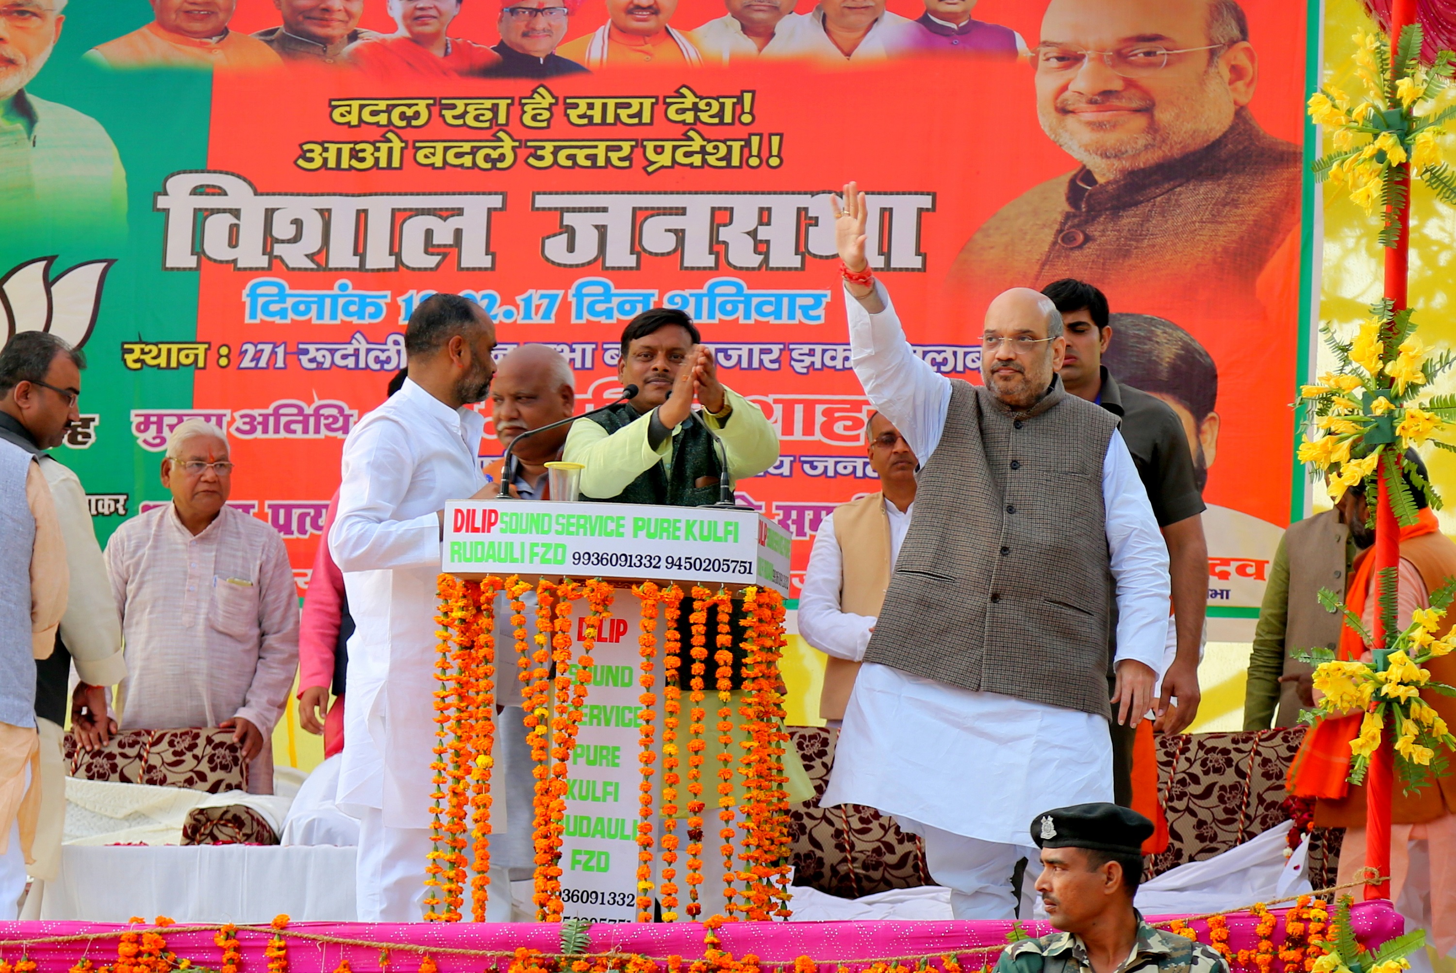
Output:
M446 504L440 570L462 578L517 574L529 580L676 581L684 591L693 584L756 584L788 594L789 533L753 510L462 500ZM646 690L638 654L641 618L638 600L619 590L593 650L596 664L568 771L561 848L561 899L568 919L632 922L638 913L639 714ZM578 648L584 621L578 612L572 631ZM534 618L527 629L534 637ZM661 619L654 635L661 647ZM514 666L501 666L514 671ZM662 689L658 657L651 688L658 701ZM661 768L661 737L657 747ZM655 808L661 804L660 773L652 778L652 791ZM655 830L655 817L652 824ZM716 848L716 842L708 845ZM686 886L683 893L686 902Z

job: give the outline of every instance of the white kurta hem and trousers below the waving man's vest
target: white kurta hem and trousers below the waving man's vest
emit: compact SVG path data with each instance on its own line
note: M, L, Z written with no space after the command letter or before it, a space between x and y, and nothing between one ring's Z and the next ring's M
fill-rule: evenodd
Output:
M1031 822L1056 807L1111 800L1102 717L866 663L820 805L894 816L925 836L930 877L951 889L957 919L1009 919L1016 861L1029 859L1024 902L1041 871Z

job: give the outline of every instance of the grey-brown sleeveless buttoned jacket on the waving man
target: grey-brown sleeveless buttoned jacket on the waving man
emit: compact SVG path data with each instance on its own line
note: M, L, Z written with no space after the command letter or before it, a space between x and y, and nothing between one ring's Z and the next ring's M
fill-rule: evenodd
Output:
M1102 463L1115 430L1060 383L1012 411L952 379L865 661L1111 717Z

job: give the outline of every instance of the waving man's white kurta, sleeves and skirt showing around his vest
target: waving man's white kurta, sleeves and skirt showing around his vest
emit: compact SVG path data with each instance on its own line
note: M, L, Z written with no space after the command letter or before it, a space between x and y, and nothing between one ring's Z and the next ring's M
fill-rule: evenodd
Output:
M846 294L855 371L871 403L929 460L945 430L951 383L910 351L888 294L877 288L885 303L877 315ZM1168 549L1118 433L1102 465L1102 498L1117 581L1115 660L1133 658L1160 673ZM1056 583L1056 565L1047 565L1047 583ZM1026 829L1041 811L1111 800L1112 750L1102 717L866 663L820 804L865 804L911 830L923 823L1026 845Z

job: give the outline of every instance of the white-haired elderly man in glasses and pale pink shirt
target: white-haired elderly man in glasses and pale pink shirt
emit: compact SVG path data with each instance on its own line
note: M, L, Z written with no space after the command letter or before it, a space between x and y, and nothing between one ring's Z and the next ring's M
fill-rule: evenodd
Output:
M272 730L298 667L298 591L278 532L227 505L227 437L188 419L167 438L172 503L106 545L125 639L121 728L223 727L248 789L272 794Z

